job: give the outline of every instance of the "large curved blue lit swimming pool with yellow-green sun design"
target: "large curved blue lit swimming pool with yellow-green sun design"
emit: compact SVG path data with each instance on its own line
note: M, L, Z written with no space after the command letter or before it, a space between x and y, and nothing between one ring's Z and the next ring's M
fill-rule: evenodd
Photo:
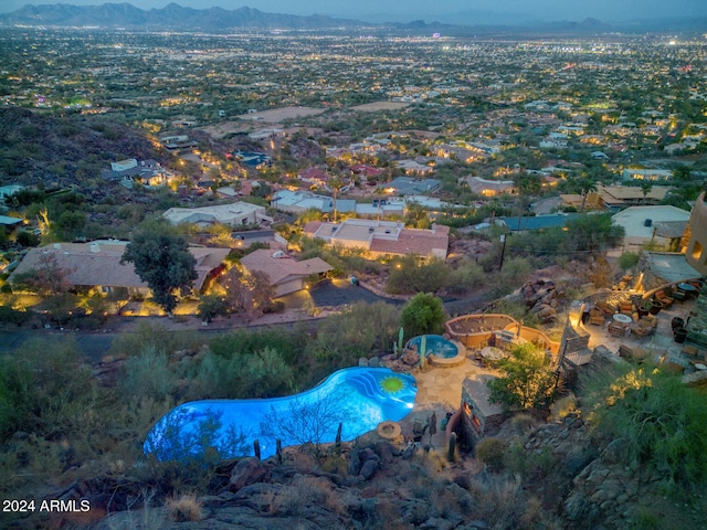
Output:
M277 438L283 447L331 443L341 423L341 439L351 441L381 422L400 421L412 411L416 393L412 375L387 368L348 368L286 398L184 403L157 422L143 448L159 460L199 458L210 447L220 458L234 458L253 455L257 439L267 458L275 454Z

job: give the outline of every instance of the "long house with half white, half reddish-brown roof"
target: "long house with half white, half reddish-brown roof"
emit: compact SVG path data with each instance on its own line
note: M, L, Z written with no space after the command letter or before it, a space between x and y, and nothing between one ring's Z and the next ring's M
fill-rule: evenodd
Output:
M338 224L313 221L305 225L304 235L334 246L363 248L378 256L414 254L444 259L450 244L449 226L405 229L401 223L367 219L347 219Z

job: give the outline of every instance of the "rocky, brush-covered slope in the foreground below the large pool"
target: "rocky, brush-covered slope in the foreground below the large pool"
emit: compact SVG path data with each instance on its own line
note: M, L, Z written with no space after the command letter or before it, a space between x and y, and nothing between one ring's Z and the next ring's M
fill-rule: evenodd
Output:
M705 528L704 496L679 501L659 489L658 470L623 465L623 442L598 438L573 403L566 400L566 412L551 422L517 416L482 442L475 457L454 462L442 448L369 436L318 458L305 448L286 452L283 462L245 458L180 477L166 466L151 489L107 473L55 494L87 499L93 518L55 522L92 530L166 521L191 530ZM160 487L170 480L209 492L165 497Z

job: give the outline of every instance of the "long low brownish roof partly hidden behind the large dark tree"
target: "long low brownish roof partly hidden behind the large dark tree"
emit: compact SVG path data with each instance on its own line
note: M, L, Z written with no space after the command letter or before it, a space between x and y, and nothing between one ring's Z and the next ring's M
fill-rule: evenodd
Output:
M51 254L59 267L64 269L68 280L76 287L101 287L104 293L114 288L127 288L129 293L147 294L147 284L140 279L131 263L120 264L128 242L108 240L93 243L54 243L51 246L30 248L18 268L12 273L12 283L18 274L41 266L42 256ZM215 274L230 248L189 247L197 259L197 279L193 288L200 292L207 278Z

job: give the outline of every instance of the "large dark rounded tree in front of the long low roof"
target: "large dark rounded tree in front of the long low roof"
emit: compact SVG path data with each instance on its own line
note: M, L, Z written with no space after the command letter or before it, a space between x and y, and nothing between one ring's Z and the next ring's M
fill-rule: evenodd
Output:
M152 290L152 298L167 312L177 306L175 290L186 294L197 279L197 259L183 237L160 232L138 232L125 248L120 263L133 263L135 272Z

